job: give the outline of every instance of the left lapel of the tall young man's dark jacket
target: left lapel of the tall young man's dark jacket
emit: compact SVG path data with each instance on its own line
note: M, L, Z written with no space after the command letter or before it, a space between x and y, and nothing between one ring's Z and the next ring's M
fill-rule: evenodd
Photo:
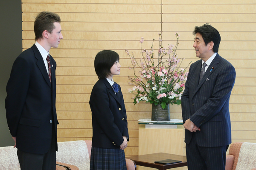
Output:
M50 80L49 80L49 77L48 77L48 74L47 74L47 70L46 70L45 65L44 65L44 60L43 60L43 57L42 57L41 53L39 52L39 50L35 46L35 44L31 48L32 48L32 50L35 53L35 58L38 59L36 64L38 65L38 68L41 71L41 74L43 75L43 77L44 77L45 81L47 82L47 84L49 85L49 87L52 88Z

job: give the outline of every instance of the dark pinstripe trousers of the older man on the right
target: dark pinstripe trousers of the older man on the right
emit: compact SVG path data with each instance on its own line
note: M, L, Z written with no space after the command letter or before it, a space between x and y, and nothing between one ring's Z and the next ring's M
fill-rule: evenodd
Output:
M200 147L193 134L190 143L186 144L188 170L225 170L228 146Z

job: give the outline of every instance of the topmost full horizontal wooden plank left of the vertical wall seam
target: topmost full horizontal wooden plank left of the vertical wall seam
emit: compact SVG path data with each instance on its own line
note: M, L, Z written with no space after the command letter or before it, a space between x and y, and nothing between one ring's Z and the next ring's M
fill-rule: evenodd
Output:
M156 6L159 6L156 8ZM38 6L38 3L24 3L22 6L22 11L31 12L31 11L44 11L45 9L53 12L61 12L64 13L72 13L67 16L67 18L73 19L73 15L77 15L78 17L83 17L84 14L96 13L92 15L92 18L100 19L97 17L99 14L106 13L160 13L161 12L161 4L124 4L124 3L114 3L114 4L95 4L95 3L42 3ZM150 12L147 12L150 11ZM83 13L83 14L77 14ZM119 15L118 15L119 16ZM116 15L117 17L117 15ZM154 16L156 17L156 16ZM72 20L74 21L74 20Z

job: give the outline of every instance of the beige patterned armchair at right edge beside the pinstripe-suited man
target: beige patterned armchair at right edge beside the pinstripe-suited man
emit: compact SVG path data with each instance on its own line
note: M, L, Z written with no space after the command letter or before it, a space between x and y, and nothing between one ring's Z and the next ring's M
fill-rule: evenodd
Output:
M225 170L256 170L256 144L236 142L226 155Z

